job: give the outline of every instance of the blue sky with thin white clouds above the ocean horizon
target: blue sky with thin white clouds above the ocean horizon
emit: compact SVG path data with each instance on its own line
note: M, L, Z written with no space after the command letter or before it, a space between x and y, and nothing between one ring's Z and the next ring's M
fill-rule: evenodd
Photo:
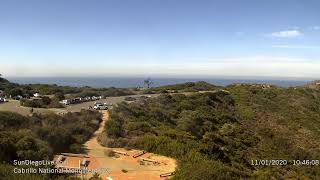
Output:
M320 1L1 0L0 73L320 78Z

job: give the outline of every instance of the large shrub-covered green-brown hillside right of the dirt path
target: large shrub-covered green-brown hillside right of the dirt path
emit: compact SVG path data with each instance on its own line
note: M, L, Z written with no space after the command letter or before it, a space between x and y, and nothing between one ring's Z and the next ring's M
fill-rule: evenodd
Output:
M320 90L264 87L122 103L110 113L103 143L177 158L175 179L320 178L319 166L292 165L320 159ZM290 165L251 165L265 159Z

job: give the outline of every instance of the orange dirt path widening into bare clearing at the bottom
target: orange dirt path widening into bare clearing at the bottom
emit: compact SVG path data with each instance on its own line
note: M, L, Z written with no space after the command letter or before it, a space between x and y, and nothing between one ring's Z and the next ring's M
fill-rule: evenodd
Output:
M172 158L156 155L153 153L146 153L139 158L133 158L132 155L140 152L139 150L125 150L124 148L107 148L101 146L98 143L97 137L104 131L105 122L109 118L108 111L101 111L103 114L103 121L100 123L99 129L94 133L93 137L87 141L84 146L87 150L87 154L93 157L95 161L94 167L108 168L110 173L101 174L103 179L107 177L113 180L127 180L127 179L139 179L139 180L153 180L153 179L165 179L160 178L160 174L173 172L176 168L176 161ZM118 150L126 152L128 156L120 155L119 158L108 157L105 155L106 150ZM160 165L140 165L139 160L141 158L149 158L160 161ZM126 170L127 172L123 172Z

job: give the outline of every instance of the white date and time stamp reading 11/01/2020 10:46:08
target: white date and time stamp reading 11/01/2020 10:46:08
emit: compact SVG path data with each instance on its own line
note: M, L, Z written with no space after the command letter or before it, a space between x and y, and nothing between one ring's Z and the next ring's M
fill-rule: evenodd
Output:
M284 159L261 159L251 160L252 166L319 166L320 161L318 159L312 160L284 160Z

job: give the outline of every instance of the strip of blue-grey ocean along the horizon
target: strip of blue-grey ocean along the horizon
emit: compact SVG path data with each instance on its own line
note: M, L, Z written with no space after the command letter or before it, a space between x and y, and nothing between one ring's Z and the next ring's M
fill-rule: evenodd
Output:
M57 84L61 86L83 87L143 87L145 78L125 77L10 77L11 82L19 84ZM267 83L280 87L302 86L311 80L268 80L268 79L223 79L223 78L152 78L152 87L185 82L206 81L211 84L226 86L234 83Z

